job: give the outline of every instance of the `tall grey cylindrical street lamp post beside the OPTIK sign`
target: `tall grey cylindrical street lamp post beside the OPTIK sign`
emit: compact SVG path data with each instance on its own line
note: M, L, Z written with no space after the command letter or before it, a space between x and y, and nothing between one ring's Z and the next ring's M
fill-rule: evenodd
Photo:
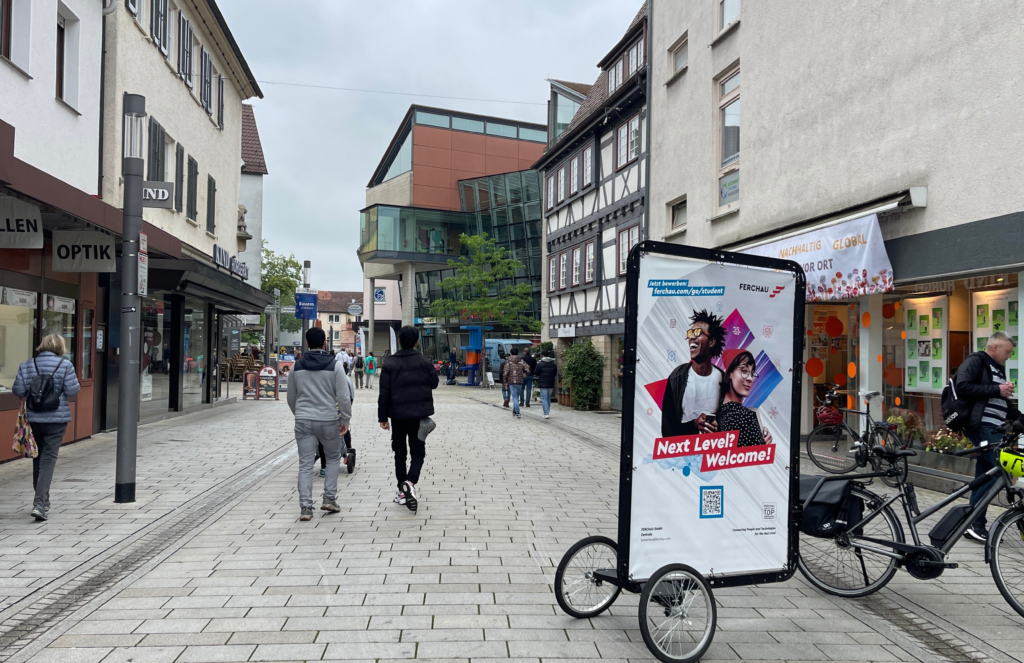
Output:
M142 230L142 139L145 97L124 95L123 227L121 233L121 346L118 379L118 451L114 501L135 501L142 298L138 293L138 241Z

